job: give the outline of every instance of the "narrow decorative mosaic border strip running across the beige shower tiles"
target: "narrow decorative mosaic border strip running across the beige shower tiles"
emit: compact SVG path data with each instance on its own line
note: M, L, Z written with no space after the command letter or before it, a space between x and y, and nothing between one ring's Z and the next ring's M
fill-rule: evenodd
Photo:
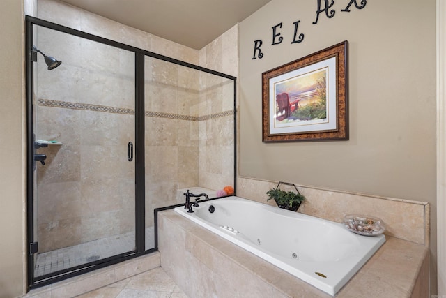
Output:
M67 101L49 100L42 98L37 100L37 104L44 107L61 107L72 110L87 110L93 112L107 112L107 113L128 114L128 115L134 114L134 109L127 109L123 107L109 107L107 105L91 105L89 103L70 103ZM177 119L186 121L206 121L210 119L217 119L221 117L231 116L234 114L234 112L235 112L234 110L229 110L206 116L188 116L188 115L171 114L163 112L150 112L150 111L146 111L144 114L146 115L146 117Z

